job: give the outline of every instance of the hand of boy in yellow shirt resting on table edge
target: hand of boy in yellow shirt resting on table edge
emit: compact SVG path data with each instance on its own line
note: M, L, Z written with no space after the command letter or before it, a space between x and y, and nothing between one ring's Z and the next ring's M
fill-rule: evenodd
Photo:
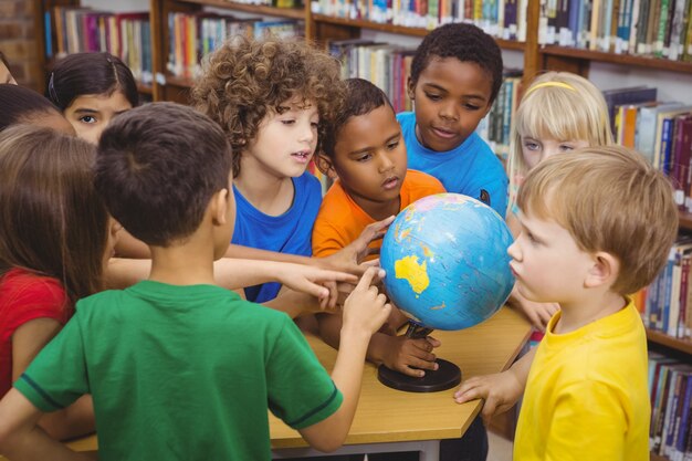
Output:
M487 420L495 413L507 411L522 397L524 387L516 376L506 370L494 375L474 376L461 384L454 392L457 404L483 399L481 416Z

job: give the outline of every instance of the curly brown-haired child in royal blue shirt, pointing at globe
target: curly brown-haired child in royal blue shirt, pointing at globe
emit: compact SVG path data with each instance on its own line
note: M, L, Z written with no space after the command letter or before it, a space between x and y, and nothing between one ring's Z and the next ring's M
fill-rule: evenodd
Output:
M221 125L233 149L238 219L227 255L316 263L311 234L322 187L306 169L343 92L337 61L304 41L238 36L203 63L192 105ZM353 269L353 248L332 258L332 266ZM245 296L265 303L280 287L247 287Z

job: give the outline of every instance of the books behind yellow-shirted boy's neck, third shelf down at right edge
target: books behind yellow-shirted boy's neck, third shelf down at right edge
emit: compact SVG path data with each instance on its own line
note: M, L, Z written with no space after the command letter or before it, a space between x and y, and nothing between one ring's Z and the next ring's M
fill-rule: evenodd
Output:
M644 326L671 337L692 338L691 266L692 239L683 237L670 250L661 273L635 300Z

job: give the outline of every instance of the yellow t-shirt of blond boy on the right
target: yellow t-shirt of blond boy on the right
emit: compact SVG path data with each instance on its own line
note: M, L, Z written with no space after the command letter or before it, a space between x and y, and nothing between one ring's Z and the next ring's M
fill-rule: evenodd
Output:
M514 461L648 461L647 336L631 300L575 332L548 323L528 373Z

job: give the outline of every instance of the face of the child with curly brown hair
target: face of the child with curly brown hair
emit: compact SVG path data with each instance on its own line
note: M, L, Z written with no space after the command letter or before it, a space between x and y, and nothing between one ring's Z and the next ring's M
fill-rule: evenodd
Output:
M305 172L317 146L319 114L315 104L282 104L282 113L269 113L255 139L243 151L241 176L247 163L258 164L277 178L296 178Z

